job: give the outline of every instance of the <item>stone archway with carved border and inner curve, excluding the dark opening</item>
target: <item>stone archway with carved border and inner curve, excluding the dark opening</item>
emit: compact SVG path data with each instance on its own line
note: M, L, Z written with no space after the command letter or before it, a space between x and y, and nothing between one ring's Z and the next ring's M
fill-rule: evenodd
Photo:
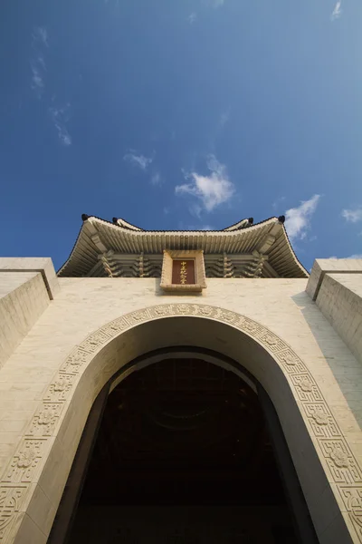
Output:
M252 374L270 397L281 424L319 542L357 541L362 526L361 471L310 370L290 345L260 323L198 304L132 312L74 347L25 433L29 447L40 453L34 463L36 472L24 466L27 480L14 491L6 527L21 520L17 512L25 511L19 510L25 498L26 511L39 509L38 489L52 504L59 504L91 407L102 390L108 394L105 384L110 385L117 373L124 379L139 370L147 364L142 361L144 355L172 346L211 349ZM34 436L41 439L32 442ZM14 455L15 464L23 459L22 448ZM23 467L22 462L17 466ZM33 488L25 495L32 481ZM52 518L50 514L43 521L44 534L49 534Z

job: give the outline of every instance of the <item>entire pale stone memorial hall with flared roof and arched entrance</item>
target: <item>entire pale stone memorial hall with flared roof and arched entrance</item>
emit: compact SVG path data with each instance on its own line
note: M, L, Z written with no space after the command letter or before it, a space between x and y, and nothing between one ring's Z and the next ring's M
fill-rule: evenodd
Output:
M1 544L362 543L362 259L284 221L0 258Z

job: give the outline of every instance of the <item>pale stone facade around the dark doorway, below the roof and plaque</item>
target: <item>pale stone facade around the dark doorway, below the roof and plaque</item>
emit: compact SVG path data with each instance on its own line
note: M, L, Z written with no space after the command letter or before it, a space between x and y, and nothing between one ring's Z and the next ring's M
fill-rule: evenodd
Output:
M56 278L0 259L0 542L45 543L101 387L158 347L243 364L271 397L319 541L362 542L362 262L310 279Z

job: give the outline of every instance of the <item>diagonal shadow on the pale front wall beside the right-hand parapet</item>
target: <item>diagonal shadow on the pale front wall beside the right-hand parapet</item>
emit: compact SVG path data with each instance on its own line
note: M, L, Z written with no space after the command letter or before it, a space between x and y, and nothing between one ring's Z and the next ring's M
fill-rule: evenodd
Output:
M350 411L353 413L359 428L362 429L361 364L357 361L355 355L352 354L348 345L345 344L332 325L330 325L329 320L322 315L316 303L311 300L310 296L305 291L300 292L298 295L293 295L291 298L299 307L307 325L309 325L310 333L316 339L319 349L324 355L329 369L334 375L339 389L348 403ZM341 352L344 352L344 354ZM312 374L315 375L317 379L319 378L319 371L314 373L312 370ZM320 376L319 380L322 384L323 377ZM336 403L335 410L338 410L338 402Z

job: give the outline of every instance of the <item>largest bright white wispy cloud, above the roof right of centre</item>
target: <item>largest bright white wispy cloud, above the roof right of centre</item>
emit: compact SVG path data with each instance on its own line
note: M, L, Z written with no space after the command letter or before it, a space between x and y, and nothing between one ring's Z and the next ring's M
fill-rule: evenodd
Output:
M226 167L214 155L209 156L207 168L211 171L209 176L202 176L197 172L186 175L184 173L186 180L191 182L177 185L175 192L176 195L192 195L201 200L206 211L213 211L216 206L232 198L234 187L228 178Z

